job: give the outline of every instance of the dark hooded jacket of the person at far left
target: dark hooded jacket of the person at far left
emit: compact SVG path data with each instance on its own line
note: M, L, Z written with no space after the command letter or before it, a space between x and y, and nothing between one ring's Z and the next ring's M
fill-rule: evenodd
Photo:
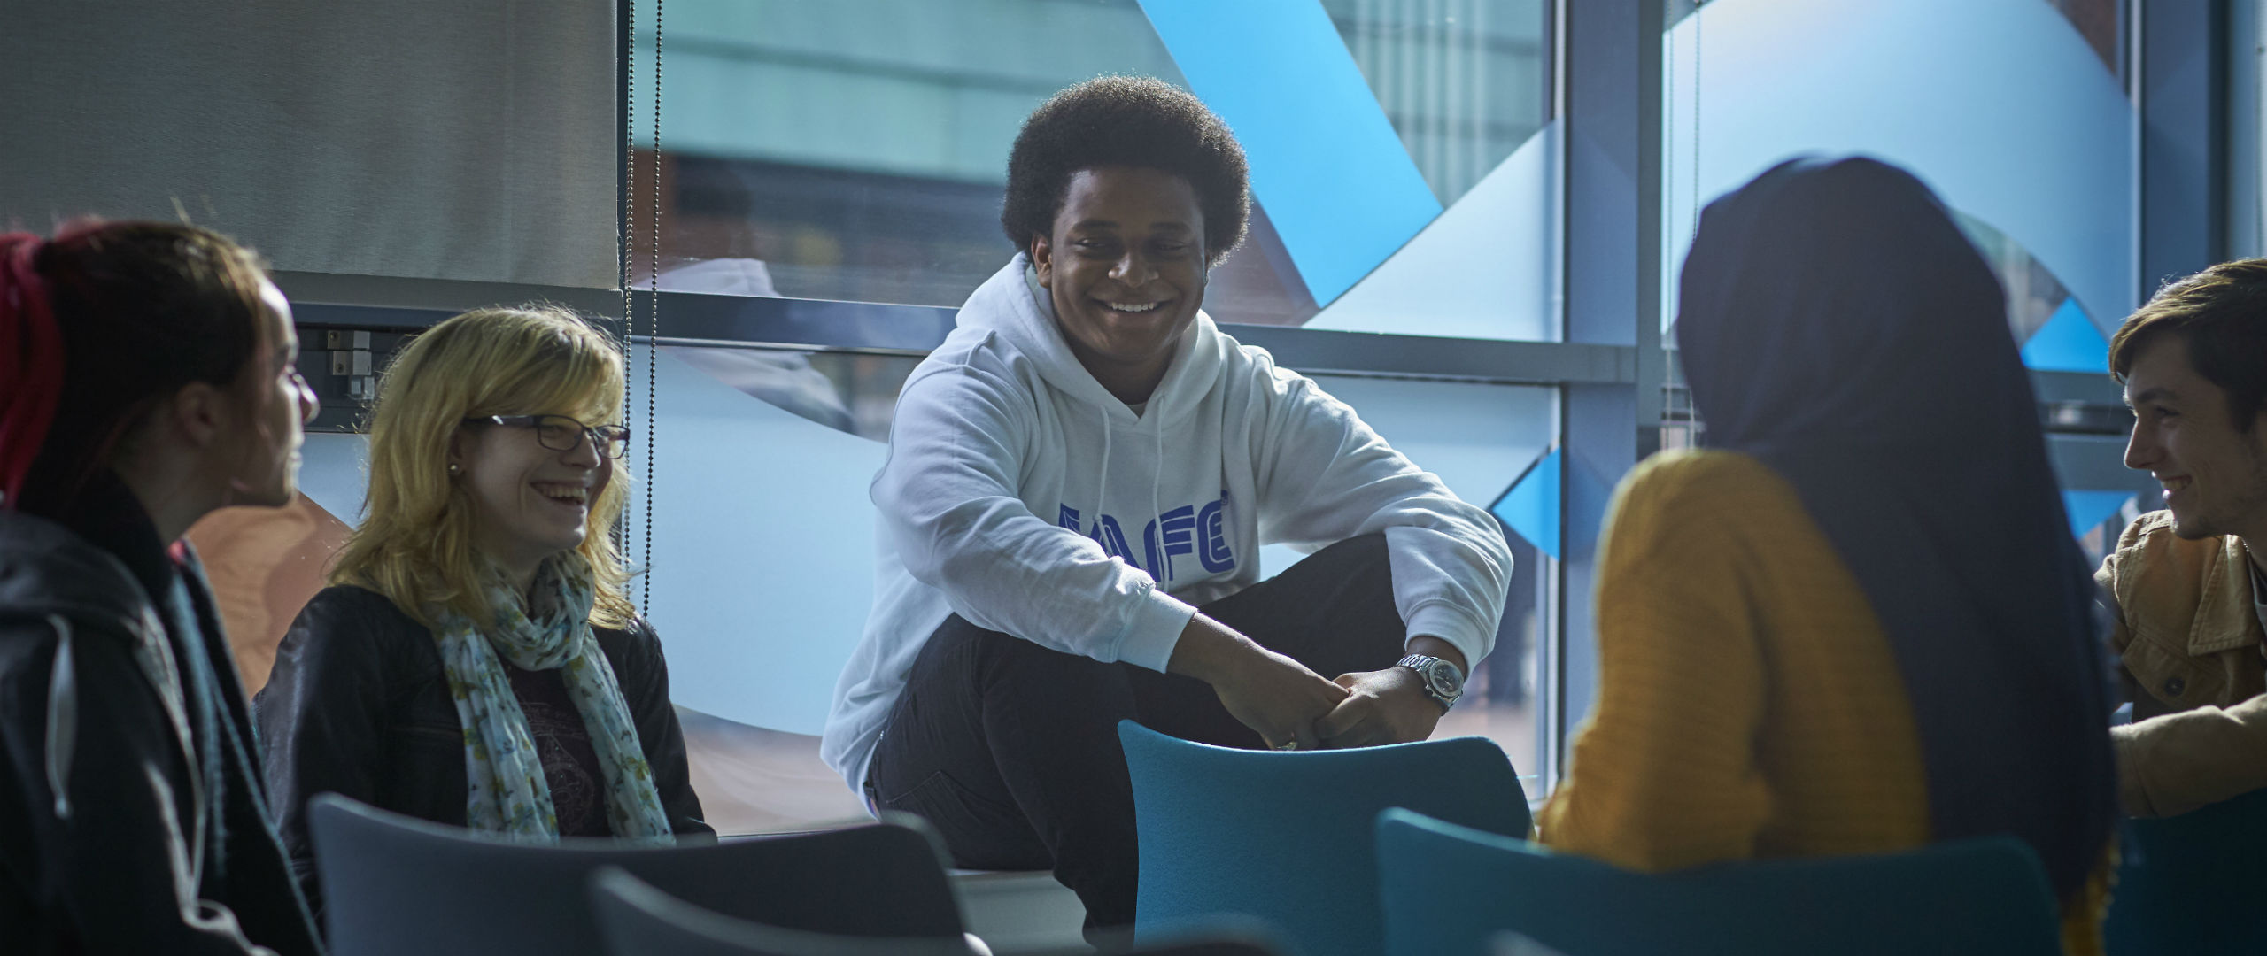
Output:
M197 560L88 496L100 546L0 510L0 954L317 954Z

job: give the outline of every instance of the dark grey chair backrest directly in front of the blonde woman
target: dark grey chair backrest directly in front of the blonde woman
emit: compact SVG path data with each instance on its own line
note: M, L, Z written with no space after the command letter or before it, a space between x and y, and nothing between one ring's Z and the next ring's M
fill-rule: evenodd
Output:
M340 795L308 804L333 956L601 956L585 879L619 865L694 906L816 933L961 938L936 834L920 820L632 847L508 843Z

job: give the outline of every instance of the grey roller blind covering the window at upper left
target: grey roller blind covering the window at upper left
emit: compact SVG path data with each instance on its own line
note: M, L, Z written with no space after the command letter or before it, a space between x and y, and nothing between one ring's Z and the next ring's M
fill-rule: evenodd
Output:
M9 2L0 227L181 208L279 270L612 288L614 48L603 0Z

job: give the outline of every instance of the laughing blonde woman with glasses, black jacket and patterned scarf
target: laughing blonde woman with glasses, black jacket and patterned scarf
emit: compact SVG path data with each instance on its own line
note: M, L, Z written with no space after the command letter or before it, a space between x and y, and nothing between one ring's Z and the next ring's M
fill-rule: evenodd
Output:
M388 369L367 517L258 693L283 845L317 906L317 793L512 838L712 834L608 535L621 392L614 344L558 308L458 315Z

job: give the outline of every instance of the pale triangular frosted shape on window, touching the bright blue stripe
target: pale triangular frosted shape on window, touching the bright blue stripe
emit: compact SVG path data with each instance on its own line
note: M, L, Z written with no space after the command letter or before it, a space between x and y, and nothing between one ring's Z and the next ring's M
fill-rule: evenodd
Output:
M1557 143L1539 129L1306 326L1557 342Z

